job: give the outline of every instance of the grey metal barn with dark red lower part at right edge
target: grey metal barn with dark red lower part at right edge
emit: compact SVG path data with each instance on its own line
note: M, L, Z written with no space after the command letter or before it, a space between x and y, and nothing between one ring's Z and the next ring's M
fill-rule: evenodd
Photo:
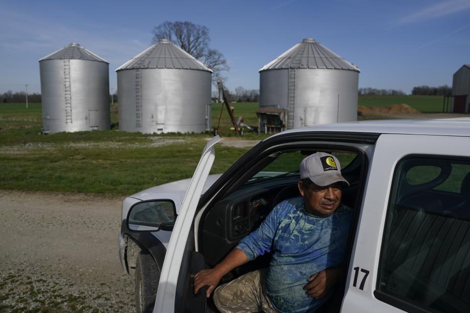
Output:
M452 79L451 112L470 112L470 64L465 64L454 73Z

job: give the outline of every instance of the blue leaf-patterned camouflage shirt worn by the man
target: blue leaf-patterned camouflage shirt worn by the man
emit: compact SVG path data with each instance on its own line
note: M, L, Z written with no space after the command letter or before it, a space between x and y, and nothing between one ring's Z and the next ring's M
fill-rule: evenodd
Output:
M275 309L281 313L314 312L328 297L305 294L307 278L325 268L342 265L352 210L340 204L326 218L307 213L303 197L279 203L236 246L253 260L273 251L262 284Z

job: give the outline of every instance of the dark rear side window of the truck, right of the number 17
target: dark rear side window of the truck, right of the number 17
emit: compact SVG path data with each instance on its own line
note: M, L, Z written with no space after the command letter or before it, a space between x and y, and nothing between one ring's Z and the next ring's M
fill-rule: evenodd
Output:
M398 163L374 294L407 312L470 312L470 160Z

